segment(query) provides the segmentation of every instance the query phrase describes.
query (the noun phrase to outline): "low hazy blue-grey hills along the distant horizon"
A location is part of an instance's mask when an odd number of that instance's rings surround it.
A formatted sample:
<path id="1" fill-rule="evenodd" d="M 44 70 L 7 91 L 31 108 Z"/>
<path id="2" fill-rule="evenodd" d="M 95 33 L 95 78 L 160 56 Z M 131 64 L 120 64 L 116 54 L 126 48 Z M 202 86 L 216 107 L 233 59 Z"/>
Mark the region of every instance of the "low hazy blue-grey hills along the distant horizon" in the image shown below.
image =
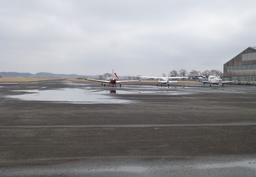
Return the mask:
<path id="1" fill-rule="evenodd" d="M 62 77 L 62 78 L 78 78 L 78 77 L 87 77 L 87 78 L 97 78 L 100 75 L 95 76 L 85 76 L 77 74 L 53 74 L 50 72 L 38 72 L 37 74 L 31 74 L 29 72 L 0 72 L 2 77 Z M 128 76 L 119 76 L 119 79 L 127 79 Z"/>

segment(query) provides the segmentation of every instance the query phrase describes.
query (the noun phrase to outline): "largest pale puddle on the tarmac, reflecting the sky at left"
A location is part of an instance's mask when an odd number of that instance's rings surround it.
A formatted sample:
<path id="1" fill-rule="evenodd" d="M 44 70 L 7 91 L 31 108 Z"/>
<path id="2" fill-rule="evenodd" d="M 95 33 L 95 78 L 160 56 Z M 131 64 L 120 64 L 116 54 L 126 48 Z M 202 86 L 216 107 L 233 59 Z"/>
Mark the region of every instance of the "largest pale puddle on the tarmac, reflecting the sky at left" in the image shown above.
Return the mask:
<path id="1" fill-rule="evenodd" d="M 111 90 L 83 90 L 83 89 L 56 89 L 56 90 L 15 90 L 25 94 L 7 96 L 21 100 L 57 101 L 71 103 L 128 103 L 129 100 L 111 96 Z"/>

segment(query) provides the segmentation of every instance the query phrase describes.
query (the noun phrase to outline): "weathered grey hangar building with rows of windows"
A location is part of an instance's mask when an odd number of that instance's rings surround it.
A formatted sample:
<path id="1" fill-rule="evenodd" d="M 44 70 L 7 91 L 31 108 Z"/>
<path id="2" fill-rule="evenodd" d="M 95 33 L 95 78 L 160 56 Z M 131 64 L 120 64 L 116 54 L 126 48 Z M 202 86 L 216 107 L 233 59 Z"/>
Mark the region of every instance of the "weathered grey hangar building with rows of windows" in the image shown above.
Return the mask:
<path id="1" fill-rule="evenodd" d="M 223 75 L 237 84 L 256 84 L 256 47 L 248 47 L 225 63 Z"/>

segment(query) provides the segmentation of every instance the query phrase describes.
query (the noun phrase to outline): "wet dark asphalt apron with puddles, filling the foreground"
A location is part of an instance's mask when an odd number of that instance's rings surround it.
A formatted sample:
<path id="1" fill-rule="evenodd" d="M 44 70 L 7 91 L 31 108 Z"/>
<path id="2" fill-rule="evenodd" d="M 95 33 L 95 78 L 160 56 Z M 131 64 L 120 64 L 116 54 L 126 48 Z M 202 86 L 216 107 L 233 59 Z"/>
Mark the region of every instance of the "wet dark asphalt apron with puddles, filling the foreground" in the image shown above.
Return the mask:
<path id="1" fill-rule="evenodd" d="M 0 83 L 0 176 L 255 177 L 255 137 L 252 85 Z"/>

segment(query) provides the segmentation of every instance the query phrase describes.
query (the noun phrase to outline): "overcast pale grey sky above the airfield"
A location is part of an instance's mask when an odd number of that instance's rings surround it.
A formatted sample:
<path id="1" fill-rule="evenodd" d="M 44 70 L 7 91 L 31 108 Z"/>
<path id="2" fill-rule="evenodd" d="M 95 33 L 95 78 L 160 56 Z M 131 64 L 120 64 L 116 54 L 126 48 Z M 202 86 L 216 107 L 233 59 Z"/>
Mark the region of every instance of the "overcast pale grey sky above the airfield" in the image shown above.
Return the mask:
<path id="1" fill-rule="evenodd" d="M 160 76 L 256 46 L 254 0 L 0 0 L 0 72 Z"/>

